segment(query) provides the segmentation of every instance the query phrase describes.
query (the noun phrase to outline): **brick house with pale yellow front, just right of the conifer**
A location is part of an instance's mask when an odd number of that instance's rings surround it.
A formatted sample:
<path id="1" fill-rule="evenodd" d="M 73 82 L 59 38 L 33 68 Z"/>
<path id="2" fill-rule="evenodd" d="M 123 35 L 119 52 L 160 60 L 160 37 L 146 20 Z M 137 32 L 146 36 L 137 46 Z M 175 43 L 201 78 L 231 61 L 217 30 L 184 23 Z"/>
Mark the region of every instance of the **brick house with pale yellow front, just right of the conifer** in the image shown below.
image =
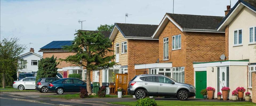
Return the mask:
<path id="1" fill-rule="evenodd" d="M 115 62 L 113 68 L 103 70 L 102 82 L 113 82 L 111 73 L 126 73 L 128 81 L 147 70 L 136 70 L 136 64 L 155 63 L 158 59 L 158 39 L 152 35 L 158 25 L 115 23 L 109 36 L 113 42 Z"/>

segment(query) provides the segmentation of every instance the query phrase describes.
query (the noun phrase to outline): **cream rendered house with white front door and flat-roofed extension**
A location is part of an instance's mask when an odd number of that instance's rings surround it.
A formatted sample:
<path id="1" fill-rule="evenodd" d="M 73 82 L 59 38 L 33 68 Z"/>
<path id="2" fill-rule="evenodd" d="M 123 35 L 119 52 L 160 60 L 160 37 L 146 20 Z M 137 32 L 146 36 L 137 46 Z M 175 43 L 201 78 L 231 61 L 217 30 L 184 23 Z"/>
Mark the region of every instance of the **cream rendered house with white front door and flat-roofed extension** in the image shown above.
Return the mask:
<path id="1" fill-rule="evenodd" d="M 244 87 L 253 94 L 253 74 L 256 71 L 256 1 L 239 0 L 233 8 L 227 6 L 225 18 L 217 26 L 218 31 L 225 31 L 226 59 L 206 63 L 194 63 L 194 70 L 206 70 L 207 86 L 221 92 L 224 86 L 231 92 L 237 87 Z M 231 96 L 231 93 L 229 93 Z"/>

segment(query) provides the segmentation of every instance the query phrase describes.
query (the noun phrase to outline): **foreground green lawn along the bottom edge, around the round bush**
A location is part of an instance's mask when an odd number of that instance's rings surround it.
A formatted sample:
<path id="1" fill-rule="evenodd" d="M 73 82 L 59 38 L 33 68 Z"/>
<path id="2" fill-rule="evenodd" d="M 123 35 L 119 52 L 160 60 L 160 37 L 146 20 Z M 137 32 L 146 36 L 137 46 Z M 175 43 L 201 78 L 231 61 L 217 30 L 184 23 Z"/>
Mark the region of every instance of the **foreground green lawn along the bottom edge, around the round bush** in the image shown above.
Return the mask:
<path id="1" fill-rule="evenodd" d="M 158 106 L 256 106 L 252 102 L 204 102 L 204 101 L 156 101 Z M 135 101 L 133 102 L 108 102 L 111 104 L 120 104 L 127 106 L 135 106 Z"/>

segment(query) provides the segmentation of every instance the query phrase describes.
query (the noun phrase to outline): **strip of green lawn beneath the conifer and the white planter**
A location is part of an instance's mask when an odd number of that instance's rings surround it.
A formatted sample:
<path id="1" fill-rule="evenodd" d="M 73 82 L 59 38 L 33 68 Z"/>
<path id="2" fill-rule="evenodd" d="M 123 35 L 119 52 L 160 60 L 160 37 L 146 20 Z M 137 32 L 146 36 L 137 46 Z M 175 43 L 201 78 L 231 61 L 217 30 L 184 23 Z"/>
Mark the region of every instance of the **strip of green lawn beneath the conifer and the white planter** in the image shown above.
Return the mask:
<path id="1" fill-rule="evenodd" d="M 80 99 L 80 95 L 78 94 L 65 94 L 65 95 L 45 95 L 41 97 L 51 97 L 51 98 L 62 98 L 62 99 Z M 122 96 L 122 98 L 132 98 L 131 95 Z M 89 98 L 99 98 L 98 95 L 90 95 Z M 117 95 L 106 95 L 105 98 L 117 98 Z"/>

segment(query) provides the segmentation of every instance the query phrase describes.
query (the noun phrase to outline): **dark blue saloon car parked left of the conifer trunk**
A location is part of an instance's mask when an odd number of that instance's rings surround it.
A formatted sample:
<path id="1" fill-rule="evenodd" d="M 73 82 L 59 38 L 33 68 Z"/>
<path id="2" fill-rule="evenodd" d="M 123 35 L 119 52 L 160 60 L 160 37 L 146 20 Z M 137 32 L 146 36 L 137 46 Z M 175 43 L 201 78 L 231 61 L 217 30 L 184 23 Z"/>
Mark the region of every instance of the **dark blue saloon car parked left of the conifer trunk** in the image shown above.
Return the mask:
<path id="1" fill-rule="evenodd" d="M 63 78 L 49 83 L 48 90 L 57 94 L 63 94 L 64 92 L 80 92 L 80 87 L 86 89 L 86 82 L 78 78 Z"/>

